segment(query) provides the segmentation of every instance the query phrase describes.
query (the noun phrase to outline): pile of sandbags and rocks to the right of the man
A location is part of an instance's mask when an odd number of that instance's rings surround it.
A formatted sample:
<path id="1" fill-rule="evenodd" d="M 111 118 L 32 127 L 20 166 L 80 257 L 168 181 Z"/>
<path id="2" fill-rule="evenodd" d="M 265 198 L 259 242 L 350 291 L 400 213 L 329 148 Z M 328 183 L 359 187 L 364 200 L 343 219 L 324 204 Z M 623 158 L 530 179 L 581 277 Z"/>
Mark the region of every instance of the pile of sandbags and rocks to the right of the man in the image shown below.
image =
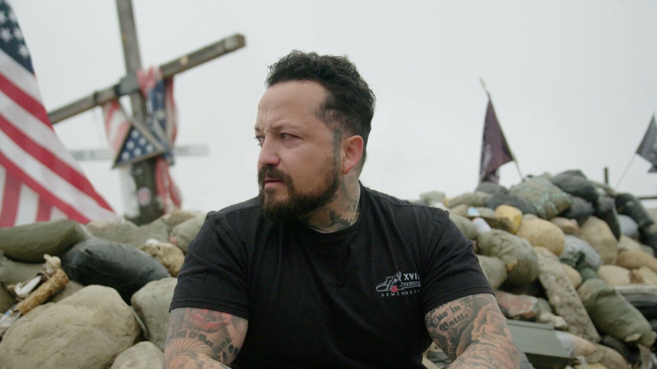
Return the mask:
<path id="1" fill-rule="evenodd" d="M 635 196 L 572 170 L 421 198 L 474 242 L 505 316 L 553 326 L 572 366 L 657 364 L 657 223 Z"/>

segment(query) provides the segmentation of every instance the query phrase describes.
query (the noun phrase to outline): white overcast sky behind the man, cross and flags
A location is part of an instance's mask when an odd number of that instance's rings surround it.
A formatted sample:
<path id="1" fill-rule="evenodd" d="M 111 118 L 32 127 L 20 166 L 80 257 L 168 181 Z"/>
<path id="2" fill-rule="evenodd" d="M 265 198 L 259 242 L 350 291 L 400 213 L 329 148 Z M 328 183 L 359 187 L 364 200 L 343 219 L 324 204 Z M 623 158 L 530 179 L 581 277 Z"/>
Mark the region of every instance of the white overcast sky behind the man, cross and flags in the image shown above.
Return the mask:
<path id="1" fill-rule="evenodd" d="M 112 0 L 10 0 L 53 110 L 124 76 Z M 241 33 L 246 47 L 175 78 L 178 144 L 209 156 L 173 167 L 183 207 L 219 209 L 256 194 L 253 139 L 267 65 L 292 49 L 346 54 L 378 98 L 366 186 L 406 199 L 476 188 L 486 82 L 522 175 L 581 169 L 657 194 L 635 156 L 657 108 L 657 1 L 133 0 L 141 58 L 162 64 Z M 125 101 L 125 105 L 128 102 Z M 106 148 L 100 108 L 55 125 L 70 149 Z M 118 211 L 110 162 L 83 169 Z M 513 163 L 501 184 L 520 182 Z"/>

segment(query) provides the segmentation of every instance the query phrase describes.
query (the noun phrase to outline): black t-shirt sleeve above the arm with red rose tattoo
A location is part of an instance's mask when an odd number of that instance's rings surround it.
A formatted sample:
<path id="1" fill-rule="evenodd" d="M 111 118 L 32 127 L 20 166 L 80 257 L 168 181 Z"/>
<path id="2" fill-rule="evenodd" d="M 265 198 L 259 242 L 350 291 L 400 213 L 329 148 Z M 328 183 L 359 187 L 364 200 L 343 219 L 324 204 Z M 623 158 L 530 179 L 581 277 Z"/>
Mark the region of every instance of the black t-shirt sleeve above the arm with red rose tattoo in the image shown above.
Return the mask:
<path id="1" fill-rule="evenodd" d="M 248 319 L 246 253 L 221 215 L 210 213 L 187 247 L 170 309 L 178 307 Z"/>

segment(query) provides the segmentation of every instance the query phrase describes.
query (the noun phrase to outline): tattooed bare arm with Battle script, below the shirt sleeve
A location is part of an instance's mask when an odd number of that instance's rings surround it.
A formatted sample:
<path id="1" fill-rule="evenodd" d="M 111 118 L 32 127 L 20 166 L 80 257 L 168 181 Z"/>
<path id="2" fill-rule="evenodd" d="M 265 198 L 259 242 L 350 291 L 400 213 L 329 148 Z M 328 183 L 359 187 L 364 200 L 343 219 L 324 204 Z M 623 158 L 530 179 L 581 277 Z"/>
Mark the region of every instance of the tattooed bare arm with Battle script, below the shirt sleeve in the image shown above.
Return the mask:
<path id="1" fill-rule="evenodd" d="M 507 320 L 495 296 L 468 295 L 424 316 L 429 335 L 453 363 L 449 368 L 519 368 Z"/>

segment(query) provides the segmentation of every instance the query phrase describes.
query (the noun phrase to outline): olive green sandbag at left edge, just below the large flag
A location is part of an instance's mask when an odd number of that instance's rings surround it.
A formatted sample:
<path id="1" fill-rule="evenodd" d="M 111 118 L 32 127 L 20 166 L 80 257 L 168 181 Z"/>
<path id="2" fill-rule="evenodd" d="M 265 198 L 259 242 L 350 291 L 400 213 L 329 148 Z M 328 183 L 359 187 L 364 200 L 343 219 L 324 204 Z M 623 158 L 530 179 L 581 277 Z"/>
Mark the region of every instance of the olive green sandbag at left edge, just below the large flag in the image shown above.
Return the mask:
<path id="1" fill-rule="evenodd" d="M 59 255 L 91 234 L 76 221 L 58 219 L 0 228 L 0 251 L 15 261 L 43 263 L 43 254 Z"/>

